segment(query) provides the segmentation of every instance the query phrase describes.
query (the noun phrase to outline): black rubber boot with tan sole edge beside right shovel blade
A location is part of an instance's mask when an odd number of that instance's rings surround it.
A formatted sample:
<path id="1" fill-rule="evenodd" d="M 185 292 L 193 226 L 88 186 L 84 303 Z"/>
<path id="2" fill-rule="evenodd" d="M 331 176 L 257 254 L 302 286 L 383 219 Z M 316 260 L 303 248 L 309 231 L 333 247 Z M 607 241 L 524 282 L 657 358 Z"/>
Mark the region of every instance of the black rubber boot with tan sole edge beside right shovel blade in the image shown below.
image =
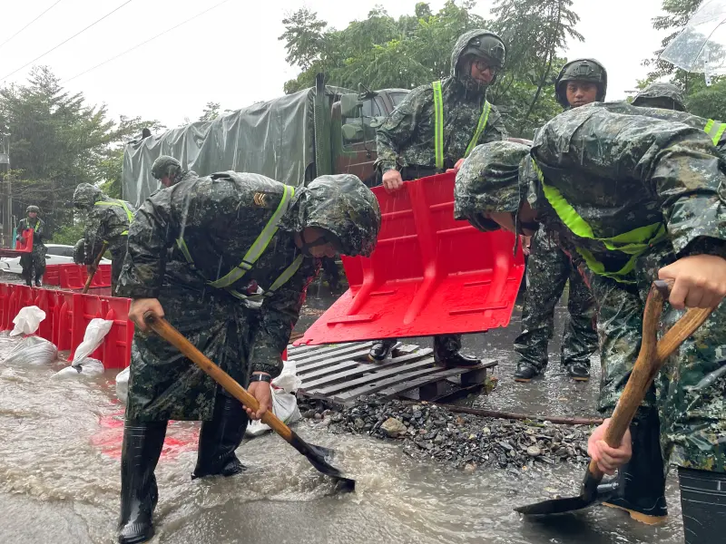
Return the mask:
<path id="1" fill-rule="evenodd" d="M 633 457 L 616 477 L 620 497 L 603 504 L 627 511 L 633 520 L 654 525 L 668 516 L 658 413 L 651 410 L 642 420 L 631 423 L 630 433 Z"/>

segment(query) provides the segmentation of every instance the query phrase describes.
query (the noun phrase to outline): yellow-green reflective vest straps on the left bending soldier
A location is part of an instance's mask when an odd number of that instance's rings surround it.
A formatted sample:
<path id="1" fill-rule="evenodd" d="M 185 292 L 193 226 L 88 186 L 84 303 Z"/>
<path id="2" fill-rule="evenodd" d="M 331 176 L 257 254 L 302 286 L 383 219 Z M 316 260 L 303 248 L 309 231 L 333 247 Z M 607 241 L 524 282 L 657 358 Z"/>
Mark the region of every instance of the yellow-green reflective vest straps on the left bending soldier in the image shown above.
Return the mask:
<path id="1" fill-rule="evenodd" d="M 252 266 L 258 261 L 258 259 L 262 256 L 267 247 L 270 245 L 270 241 L 278 231 L 280 220 L 282 219 L 282 216 L 285 215 L 285 212 L 288 211 L 290 203 L 292 201 L 292 197 L 294 196 L 295 189 L 290 187 L 289 185 L 285 185 L 285 189 L 283 189 L 282 192 L 282 199 L 280 199 L 280 204 L 278 205 L 278 208 L 275 209 L 275 213 L 272 214 L 272 217 L 267 222 L 267 225 L 265 225 L 265 228 L 262 228 L 260 236 L 258 236 L 255 241 L 252 242 L 250 249 L 248 249 L 247 253 L 245 253 L 244 257 L 242 257 L 242 261 L 240 262 L 240 264 L 237 267 L 232 268 L 231 272 L 224 277 L 221 277 L 215 281 L 207 280 L 208 285 L 210 285 L 211 287 L 226 289 L 232 296 L 236 296 L 241 300 L 260 300 L 262 296 L 272 296 L 275 291 L 277 291 L 280 287 L 286 284 L 289 279 L 295 275 L 295 272 L 297 272 L 300 265 L 302 265 L 302 261 L 304 258 L 302 254 L 296 257 L 295 260 L 292 261 L 292 264 L 289 267 L 285 268 L 282 274 L 280 274 L 280 277 L 273 281 L 272 285 L 268 287 L 267 291 L 263 293 L 260 293 L 258 295 L 244 295 L 236 289 L 232 288 L 232 285 L 234 283 L 239 281 L 241 277 L 243 277 L 245 274 L 247 274 L 248 271 L 250 271 Z M 189 248 L 187 248 L 186 242 L 184 242 L 184 238 L 177 238 L 176 244 L 177 247 L 182 251 L 182 255 L 184 256 L 184 258 L 193 267 L 194 259 L 191 258 L 191 253 L 189 252 Z"/>

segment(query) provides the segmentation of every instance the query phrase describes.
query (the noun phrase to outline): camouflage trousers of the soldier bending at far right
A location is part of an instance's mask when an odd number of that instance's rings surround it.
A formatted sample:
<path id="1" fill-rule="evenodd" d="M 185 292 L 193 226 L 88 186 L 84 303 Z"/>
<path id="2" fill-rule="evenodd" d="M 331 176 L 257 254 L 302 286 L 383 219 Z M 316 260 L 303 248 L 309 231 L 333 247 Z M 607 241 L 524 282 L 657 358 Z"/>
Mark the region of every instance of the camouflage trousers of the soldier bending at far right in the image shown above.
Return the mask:
<path id="1" fill-rule="evenodd" d="M 672 256 L 642 257 L 637 285 L 619 284 L 588 273 L 598 310 L 603 365 L 598 409 L 606 416 L 627 383 L 640 351 L 643 309 L 658 269 Z M 666 304 L 662 331 L 683 312 Z M 663 460 L 684 468 L 726 471 L 726 304 L 686 340 L 655 377 L 635 421 L 655 406 L 661 420 Z"/>

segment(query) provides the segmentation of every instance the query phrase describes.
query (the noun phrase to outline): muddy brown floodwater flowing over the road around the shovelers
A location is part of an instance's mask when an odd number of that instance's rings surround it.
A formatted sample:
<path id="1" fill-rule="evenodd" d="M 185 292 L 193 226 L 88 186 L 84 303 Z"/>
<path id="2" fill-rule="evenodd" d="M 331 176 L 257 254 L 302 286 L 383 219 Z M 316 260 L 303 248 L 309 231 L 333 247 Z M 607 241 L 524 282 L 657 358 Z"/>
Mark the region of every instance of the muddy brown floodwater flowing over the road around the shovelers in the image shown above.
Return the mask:
<path id="1" fill-rule="evenodd" d="M 321 299 L 322 300 L 322 299 Z M 311 293 L 308 316 L 319 299 Z M 324 304 L 321 302 L 321 304 Z M 513 320 L 514 322 L 514 320 Z M 516 385 L 508 351 L 518 330 L 466 338 L 467 350 L 500 357 L 499 385 L 476 406 L 530 413 L 594 414 L 596 383 L 569 384 L 556 355 L 543 381 Z M 0 334 L 0 361 L 18 342 Z M 422 342 L 428 342 L 423 340 Z M 551 346 L 556 353 L 556 345 Z M 111 543 L 118 515 L 123 404 L 114 374 L 52 380 L 54 367 L 0 362 L 0 542 Z M 594 380 L 596 382 L 596 380 Z M 320 424 L 320 423 L 318 423 Z M 337 464 L 358 481 L 353 494 L 332 486 L 287 444 L 268 435 L 238 451 L 249 470 L 191 481 L 197 423 L 172 423 L 157 469 L 159 543 L 232 544 L 567 544 L 682 542 L 677 486 L 672 517 L 651 528 L 597 507 L 547 524 L 521 520 L 512 508 L 577 491 L 582 469 L 449 471 L 413 461 L 394 443 L 328 434 L 298 425 L 309 442 L 334 447 Z M 546 471 L 544 471 L 546 470 Z"/>

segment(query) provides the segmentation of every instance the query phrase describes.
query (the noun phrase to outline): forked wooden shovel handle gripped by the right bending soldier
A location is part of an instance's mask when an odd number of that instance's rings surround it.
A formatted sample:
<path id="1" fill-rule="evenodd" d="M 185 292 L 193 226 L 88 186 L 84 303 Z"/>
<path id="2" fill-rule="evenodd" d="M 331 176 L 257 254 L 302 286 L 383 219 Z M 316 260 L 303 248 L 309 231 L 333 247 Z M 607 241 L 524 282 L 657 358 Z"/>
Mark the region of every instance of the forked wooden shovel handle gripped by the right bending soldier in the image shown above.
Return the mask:
<path id="1" fill-rule="evenodd" d="M 658 342 L 658 322 L 661 318 L 663 302 L 672 286 L 672 280 L 653 282 L 645 301 L 641 350 L 633 366 L 633 372 L 628 378 L 628 383 L 625 384 L 623 394 L 615 406 L 607 432 L 605 432 L 605 442 L 612 448 L 617 448 L 623 441 L 623 436 L 630 427 L 638 407 L 643 402 L 645 393 L 666 359 L 696 332 L 698 327 L 703 325 L 703 322 L 711 316 L 715 309 L 715 307 L 689 308 Z M 590 461 L 590 471 L 597 478 L 603 477 L 603 473 L 597 468 L 595 461 Z"/>

